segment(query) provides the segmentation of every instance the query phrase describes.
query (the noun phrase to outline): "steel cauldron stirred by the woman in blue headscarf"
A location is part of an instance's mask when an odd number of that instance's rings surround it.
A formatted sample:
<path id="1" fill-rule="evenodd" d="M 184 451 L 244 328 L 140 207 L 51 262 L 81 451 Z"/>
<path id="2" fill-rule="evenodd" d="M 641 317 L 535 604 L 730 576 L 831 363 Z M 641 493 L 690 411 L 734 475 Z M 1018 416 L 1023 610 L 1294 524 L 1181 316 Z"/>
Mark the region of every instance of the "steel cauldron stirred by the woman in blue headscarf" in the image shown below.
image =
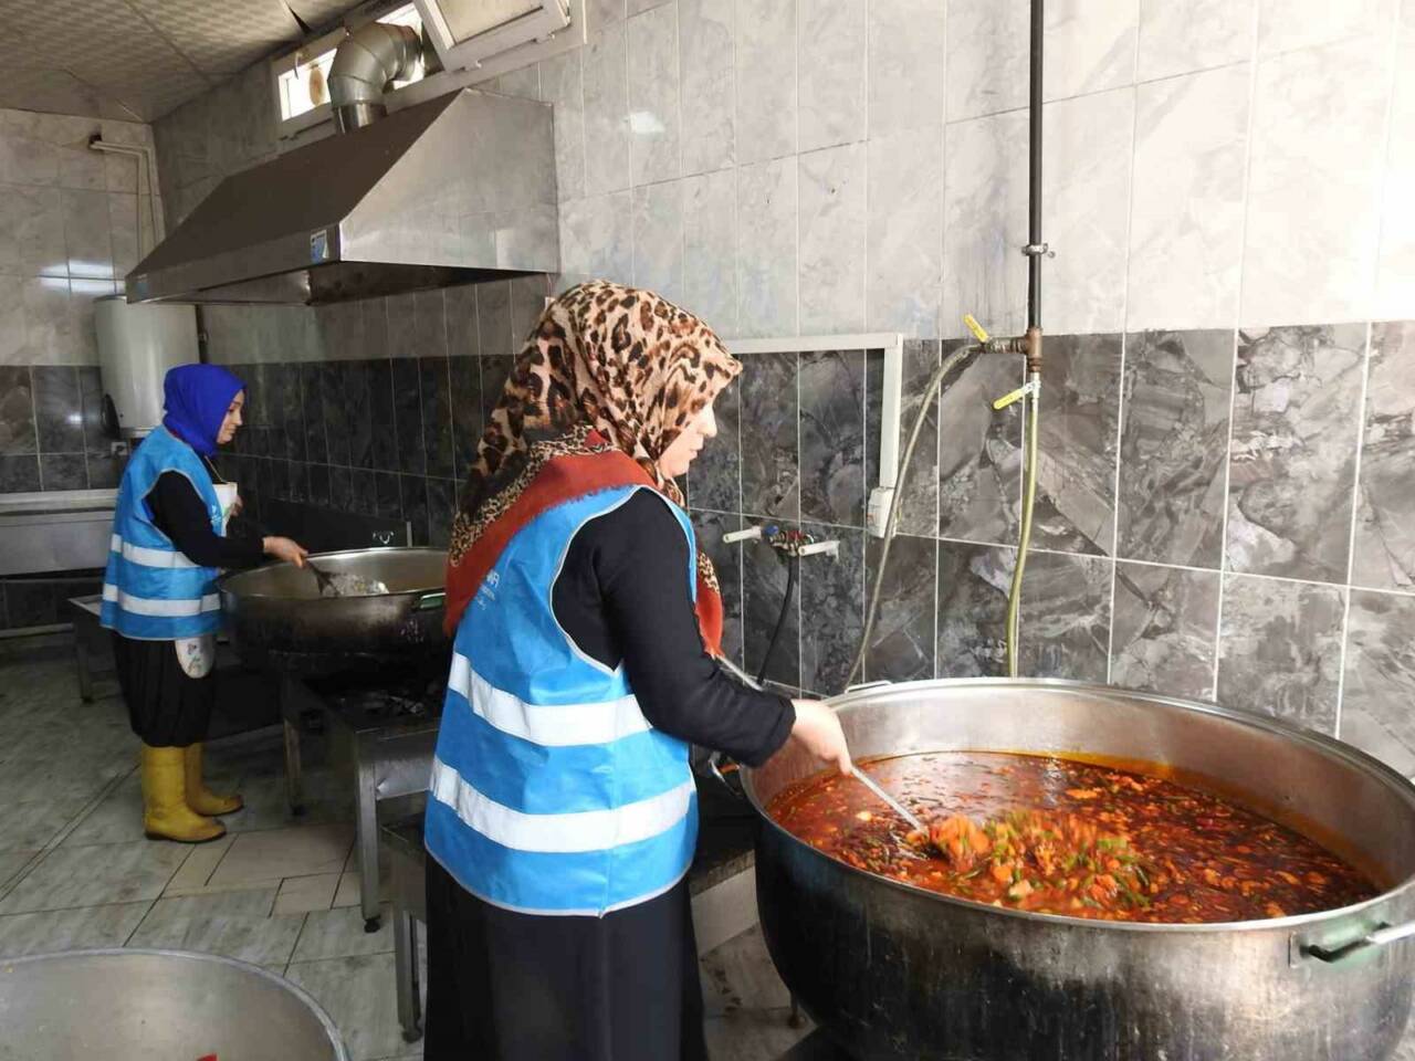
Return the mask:
<path id="1" fill-rule="evenodd" d="M 222 576 L 231 644 L 256 666 L 301 673 L 444 652 L 441 549 L 358 549 L 311 557 L 330 574 L 378 579 L 389 593 L 320 597 L 310 572 L 287 563 Z"/>

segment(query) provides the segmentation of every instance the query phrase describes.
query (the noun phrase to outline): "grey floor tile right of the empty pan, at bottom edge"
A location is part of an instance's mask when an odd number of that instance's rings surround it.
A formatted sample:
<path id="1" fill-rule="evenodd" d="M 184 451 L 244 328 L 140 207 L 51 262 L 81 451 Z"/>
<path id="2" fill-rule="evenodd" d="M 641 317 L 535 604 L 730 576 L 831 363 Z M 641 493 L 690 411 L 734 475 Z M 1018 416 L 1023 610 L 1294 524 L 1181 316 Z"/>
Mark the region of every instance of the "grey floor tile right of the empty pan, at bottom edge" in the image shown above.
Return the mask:
<path id="1" fill-rule="evenodd" d="M 406 1051 L 393 995 L 393 955 L 357 955 L 323 962 L 291 962 L 286 978 L 328 1011 L 352 1061 L 398 1057 Z"/>

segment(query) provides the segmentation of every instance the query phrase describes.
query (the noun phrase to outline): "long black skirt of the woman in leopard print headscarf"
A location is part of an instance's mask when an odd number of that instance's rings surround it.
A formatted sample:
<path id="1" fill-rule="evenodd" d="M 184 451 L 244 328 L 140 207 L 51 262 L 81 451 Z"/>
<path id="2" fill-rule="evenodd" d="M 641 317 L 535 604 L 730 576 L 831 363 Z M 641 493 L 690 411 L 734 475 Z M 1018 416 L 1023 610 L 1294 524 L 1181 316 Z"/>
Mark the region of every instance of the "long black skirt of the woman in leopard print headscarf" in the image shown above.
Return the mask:
<path id="1" fill-rule="evenodd" d="M 688 879 L 601 918 L 516 914 L 427 859 L 424 1061 L 706 1061 Z"/>

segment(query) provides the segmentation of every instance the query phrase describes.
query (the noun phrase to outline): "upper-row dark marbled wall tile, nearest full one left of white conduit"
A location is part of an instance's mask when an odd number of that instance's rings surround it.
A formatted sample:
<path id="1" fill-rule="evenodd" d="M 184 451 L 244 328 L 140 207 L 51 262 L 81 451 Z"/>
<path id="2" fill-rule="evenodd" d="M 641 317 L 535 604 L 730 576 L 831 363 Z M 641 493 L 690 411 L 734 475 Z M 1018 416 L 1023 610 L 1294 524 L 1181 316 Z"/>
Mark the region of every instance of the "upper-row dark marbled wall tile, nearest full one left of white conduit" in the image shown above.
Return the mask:
<path id="1" fill-rule="evenodd" d="M 799 417 L 802 518 L 863 528 L 865 351 L 801 355 Z"/>

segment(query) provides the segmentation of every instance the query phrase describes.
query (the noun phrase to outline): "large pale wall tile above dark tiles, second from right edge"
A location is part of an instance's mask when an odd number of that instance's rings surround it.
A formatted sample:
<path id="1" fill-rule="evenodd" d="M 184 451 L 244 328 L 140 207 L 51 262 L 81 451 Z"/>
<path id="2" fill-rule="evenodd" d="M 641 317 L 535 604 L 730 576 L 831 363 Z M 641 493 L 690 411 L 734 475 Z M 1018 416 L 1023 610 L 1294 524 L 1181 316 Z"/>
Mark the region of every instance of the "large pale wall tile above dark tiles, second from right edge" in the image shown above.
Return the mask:
<path id="1" fill-rule="evenodd" d="M 1259 64 L 1240 324 L 1367 318 L 1392 59 L 1351 41 Z"/>

